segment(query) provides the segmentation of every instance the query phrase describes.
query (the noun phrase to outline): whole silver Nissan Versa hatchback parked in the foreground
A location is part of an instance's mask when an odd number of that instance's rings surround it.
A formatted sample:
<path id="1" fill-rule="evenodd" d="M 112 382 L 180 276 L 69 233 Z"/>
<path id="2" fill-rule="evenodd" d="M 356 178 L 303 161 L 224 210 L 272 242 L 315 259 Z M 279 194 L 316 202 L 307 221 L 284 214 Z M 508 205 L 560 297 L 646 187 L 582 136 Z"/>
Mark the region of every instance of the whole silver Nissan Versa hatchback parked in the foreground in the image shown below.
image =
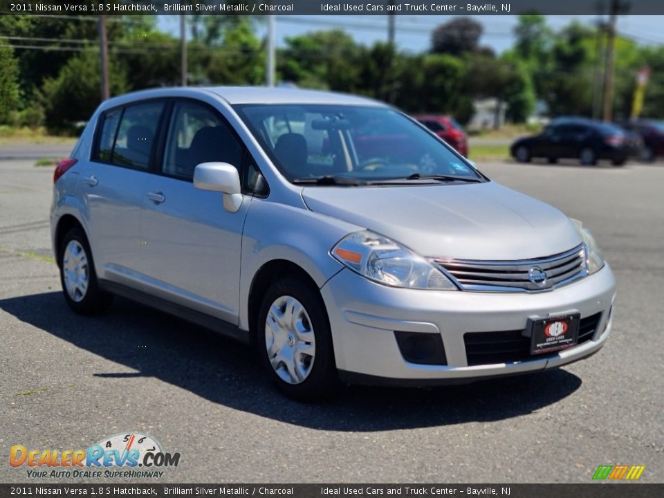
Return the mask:
<path id="1" fill-rule="evenodd" d="M 50 220 L 75 311 L 123 295 L 255 342 L 296 398 L 542 371 L 611 331 L 614 275 L 579 221 L 349 95 L 107 100 Z"/>

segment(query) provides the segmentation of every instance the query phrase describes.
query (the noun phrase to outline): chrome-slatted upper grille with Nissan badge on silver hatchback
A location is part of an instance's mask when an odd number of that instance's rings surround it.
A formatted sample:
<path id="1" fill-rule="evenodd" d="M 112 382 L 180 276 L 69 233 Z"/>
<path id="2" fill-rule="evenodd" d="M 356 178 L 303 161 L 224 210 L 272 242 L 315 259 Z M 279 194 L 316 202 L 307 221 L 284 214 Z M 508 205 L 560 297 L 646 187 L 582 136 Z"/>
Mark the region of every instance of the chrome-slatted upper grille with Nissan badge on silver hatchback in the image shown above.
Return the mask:
<path id="1" fill-rule="evenodd" d="M 588 274 L 583 244 L 557 255 L 519 261 L 434 259 L 434 262 L 464 291 L 546 291 Z"/>

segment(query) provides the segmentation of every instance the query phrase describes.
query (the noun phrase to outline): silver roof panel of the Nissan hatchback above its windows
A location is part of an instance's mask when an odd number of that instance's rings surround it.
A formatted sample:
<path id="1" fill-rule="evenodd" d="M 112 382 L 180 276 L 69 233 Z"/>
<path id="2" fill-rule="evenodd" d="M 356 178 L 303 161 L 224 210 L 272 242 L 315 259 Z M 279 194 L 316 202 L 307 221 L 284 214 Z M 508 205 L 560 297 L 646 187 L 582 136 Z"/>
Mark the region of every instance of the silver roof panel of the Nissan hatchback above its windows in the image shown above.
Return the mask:
<path id="1" fill-rule="evenodd" d="M 104 107 L 111 107 L 124 102 L 158 98 L 189 96 L 201 93 L 214 93 L 229 104 L 337 104 L 371 107 L 388 107 L 387 104 L 369 98 L 356 97 L 345 93 L 303 90 L 294 88 L 269 88 L 267 86 L 184 86 L 164 89 L 140 90 L 120 95 L 104 102 Z"/>

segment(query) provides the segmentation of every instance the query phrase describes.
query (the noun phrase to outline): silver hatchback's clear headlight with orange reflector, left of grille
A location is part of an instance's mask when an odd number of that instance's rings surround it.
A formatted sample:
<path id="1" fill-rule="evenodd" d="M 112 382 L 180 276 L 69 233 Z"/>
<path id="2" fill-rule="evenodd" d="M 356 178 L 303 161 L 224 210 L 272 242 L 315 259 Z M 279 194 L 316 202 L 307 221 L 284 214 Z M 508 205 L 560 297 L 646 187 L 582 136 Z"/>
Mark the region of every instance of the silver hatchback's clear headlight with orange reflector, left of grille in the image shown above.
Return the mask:
<path id="1" fill-rule="evenodd" d="M 457 290 L 448 277 L 426 259 L 370 230 L 347 235 L 332 248 L 331 254 L 351 270 L 380 284 Z"/>

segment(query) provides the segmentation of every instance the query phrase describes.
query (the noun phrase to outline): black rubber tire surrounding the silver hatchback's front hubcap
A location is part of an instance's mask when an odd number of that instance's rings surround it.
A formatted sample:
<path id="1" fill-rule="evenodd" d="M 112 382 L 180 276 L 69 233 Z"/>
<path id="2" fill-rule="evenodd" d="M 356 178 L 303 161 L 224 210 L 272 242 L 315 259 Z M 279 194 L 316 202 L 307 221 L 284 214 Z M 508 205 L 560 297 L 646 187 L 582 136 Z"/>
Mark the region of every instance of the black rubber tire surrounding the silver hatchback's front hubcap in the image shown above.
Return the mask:
<path id="1" fill-rule="evenodd" d="M 270 307 L 282 297 L 294 297 L 304 307 L 306 315 L 311 320 L 310 330 L 313 329 L 315 337 L 315 356 L 310 364 L 310 369 L 299 383 L 287 382 L 277 369 L 273 367 L 268 353 L 268 342 L 274 340 L 272 332 L 266 334 L 266 320 Z M 285 311 L 285 310 L 284 310 Z M 290 340 L 289 334 L 289 340 Z M 268 376 L 279 391 L 289 398 L 300 401 L 320 401 L 331 398 L 339 387 L 337 369 L 334 360 L 334 348 L 332 334 L 330 332 L 329 319 L 320 292 L 315 286 L 303 282 L 297 277 L 285 277 L 272 284 L 263 297 L 258 315 L 256 345 L 261 363 L 264 365 Z M 299 342 L 295 340 L 295 342 Z M 275 358 L 273 356 L 273 358 Z M 277 360 L 278 361 L 278 360 Z M 281 364 L 282 374 L 286 365 Z M 292 378 L 292 377 L 291 377 Z"/>

